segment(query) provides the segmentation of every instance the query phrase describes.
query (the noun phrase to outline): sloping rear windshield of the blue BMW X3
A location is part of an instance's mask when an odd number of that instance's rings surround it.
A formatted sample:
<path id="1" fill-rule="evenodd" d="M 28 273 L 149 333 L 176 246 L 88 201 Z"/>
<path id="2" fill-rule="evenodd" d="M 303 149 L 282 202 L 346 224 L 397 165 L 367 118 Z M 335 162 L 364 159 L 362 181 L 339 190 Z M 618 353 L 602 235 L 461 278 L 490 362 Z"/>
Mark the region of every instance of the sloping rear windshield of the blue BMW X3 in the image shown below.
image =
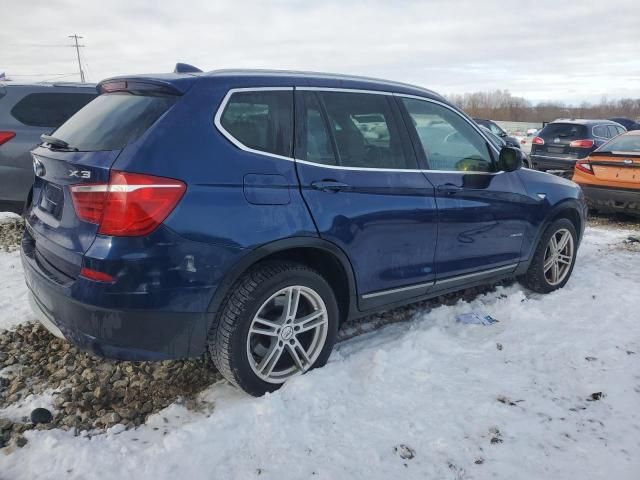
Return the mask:
<path id="1" fill-rule="evenodd" d="M 174 96 L 100 95 L 53 136 L 80 151 L 120 150 L 137 140 L 176 101 Z"/>

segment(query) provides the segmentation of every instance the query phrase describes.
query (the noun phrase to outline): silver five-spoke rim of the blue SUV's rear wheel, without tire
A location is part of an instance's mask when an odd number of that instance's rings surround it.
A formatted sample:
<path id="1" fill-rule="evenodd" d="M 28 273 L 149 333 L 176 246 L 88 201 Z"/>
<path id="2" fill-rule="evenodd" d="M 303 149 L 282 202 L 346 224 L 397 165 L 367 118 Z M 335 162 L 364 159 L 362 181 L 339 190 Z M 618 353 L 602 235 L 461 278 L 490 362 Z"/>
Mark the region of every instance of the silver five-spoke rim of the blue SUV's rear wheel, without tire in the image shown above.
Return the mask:
<path id="1" fill-rule="evenodd" d="M 269 297 L 253 317 L 247 357 L 253 372 L 268 383 L 283 383 L 304 373 L 318 359 L 329 319 L 322 297 L 294 285 Z"/>

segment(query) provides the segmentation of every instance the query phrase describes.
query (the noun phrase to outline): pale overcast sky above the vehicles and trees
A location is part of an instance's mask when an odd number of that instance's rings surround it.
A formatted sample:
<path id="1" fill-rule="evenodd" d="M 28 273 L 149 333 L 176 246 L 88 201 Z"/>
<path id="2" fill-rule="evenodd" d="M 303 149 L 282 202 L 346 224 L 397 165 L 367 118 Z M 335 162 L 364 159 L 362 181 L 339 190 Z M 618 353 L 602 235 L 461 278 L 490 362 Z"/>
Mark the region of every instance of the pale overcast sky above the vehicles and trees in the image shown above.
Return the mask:
<path id="1" fill-rule="evenodd" d="M 91 81 L 182 61 L 533 101 L 640 97 L 640 0 L 0 0 L 0 11 L 0 72 L 14 80 L 78 79 L 64 47 L 77 33 Z"/>

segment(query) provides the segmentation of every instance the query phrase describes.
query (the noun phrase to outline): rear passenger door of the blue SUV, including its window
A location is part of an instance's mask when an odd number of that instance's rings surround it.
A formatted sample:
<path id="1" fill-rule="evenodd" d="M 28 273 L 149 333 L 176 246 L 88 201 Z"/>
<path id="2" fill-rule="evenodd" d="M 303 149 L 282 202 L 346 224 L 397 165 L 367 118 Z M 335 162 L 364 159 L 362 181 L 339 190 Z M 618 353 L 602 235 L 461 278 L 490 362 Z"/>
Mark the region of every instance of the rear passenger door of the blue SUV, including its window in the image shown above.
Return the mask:
<path id="1" fill-rule="evenodd" d="M 295 157 L 322 238 L 348 255 L 361 308 L 424 294 L 434 276 L 434 189 L 391 95 L 296 89 Z"/>

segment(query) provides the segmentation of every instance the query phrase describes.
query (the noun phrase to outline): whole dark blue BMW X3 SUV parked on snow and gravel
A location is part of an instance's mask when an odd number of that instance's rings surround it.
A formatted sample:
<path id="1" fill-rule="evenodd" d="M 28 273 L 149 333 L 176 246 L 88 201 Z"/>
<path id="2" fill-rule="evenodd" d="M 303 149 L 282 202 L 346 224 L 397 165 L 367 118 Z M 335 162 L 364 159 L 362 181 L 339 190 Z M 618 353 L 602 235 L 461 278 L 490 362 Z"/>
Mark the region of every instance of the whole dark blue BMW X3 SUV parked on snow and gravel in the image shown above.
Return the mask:
<path id="1" fill-rule="evenodd" d="M 348 318 L 571 275 L 577 185 L 431 91 L 271 71 L 98 90 L 33 150 L 22 241 L 42 323 L 97 355 L 208 351 L 261 395 L 323 365 Z"/>

